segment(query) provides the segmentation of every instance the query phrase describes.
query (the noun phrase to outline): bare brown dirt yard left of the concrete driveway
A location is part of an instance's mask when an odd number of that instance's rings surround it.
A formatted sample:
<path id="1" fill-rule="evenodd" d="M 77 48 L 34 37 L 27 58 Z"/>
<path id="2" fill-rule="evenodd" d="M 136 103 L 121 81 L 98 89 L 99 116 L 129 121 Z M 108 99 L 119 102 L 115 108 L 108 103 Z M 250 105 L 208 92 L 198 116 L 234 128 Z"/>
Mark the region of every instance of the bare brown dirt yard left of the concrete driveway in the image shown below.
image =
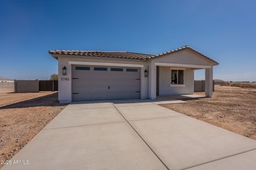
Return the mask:
<path id="1" fill-rule="evenodd" d="M 0 160 L 11 159 L 65 106 L 56 92 L 0 94 Z"/>

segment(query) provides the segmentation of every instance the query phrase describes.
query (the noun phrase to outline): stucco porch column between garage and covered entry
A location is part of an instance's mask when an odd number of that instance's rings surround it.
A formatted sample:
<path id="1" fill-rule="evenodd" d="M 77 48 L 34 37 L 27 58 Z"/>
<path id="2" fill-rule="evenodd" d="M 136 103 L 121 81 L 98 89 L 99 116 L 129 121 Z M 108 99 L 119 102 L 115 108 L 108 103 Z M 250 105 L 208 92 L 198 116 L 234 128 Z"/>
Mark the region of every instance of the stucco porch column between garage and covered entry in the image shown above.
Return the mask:
<path id="1" fill-rule="evenodd" d="M 156 65 L 151 61 L 148 69 L 148 97 L 156 99 Z"/>

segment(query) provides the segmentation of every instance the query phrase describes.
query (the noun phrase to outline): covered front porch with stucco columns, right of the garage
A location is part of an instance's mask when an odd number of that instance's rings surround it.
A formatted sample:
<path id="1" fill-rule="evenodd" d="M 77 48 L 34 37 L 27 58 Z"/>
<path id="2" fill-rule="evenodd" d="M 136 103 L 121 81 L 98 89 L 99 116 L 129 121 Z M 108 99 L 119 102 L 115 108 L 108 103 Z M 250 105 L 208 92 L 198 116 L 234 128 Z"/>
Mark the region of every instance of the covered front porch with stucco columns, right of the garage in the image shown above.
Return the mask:
<path id="1" fill-rule="evenodd" d="M 205 70 L 205 96 L 193 95 L 194 71 L 199 69 Z M 149 70 L 150 99 L 211 97 L 213 94 L 213 66 L 211 65 L 151 62 Z"/>

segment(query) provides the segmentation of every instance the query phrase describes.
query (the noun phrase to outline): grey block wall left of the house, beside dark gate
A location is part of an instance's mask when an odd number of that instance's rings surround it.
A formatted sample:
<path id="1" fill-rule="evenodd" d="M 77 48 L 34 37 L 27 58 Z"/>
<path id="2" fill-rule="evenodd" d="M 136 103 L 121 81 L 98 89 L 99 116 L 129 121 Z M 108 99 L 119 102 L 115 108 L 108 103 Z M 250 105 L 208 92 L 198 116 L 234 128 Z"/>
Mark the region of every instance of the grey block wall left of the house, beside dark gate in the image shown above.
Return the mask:
<path id="1" fill-rule="evenodd" d="M 15 80 L 15 93 L 39 92 L 39 80 Z"/>

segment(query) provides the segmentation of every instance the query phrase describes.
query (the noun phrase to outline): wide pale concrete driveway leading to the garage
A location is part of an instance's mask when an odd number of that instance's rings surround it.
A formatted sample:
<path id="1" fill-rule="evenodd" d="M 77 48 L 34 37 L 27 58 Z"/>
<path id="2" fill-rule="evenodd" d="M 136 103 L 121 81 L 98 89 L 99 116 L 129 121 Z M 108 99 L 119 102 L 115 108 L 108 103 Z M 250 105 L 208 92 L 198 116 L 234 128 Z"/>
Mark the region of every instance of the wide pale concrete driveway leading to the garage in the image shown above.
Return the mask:
<path id="1" fill-rule="evenodd" d="M 148 100 L 69 104 L 2 169 L 256 169 L 256 141 Z"/>

